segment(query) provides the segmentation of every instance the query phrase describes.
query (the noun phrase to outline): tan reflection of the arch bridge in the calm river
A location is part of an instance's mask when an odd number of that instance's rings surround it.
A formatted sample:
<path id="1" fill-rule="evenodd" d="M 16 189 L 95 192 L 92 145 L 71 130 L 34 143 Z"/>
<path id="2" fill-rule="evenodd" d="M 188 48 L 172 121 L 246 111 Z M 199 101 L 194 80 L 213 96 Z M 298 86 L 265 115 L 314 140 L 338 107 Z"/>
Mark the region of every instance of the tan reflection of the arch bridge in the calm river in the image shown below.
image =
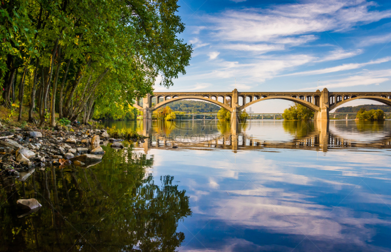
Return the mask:
<path id="1" fill-rule="evenodd" d="M 352 140 L 329 130 L 330 123 L 328 121 L 279 122 L 282 123 L 286 132 L 295 135 L 287 141 L 270 141 L 248 134 L 246 128 L 251 128 L 251 123 L 252 121 L 244 124 L 237 123 L 235 126 L 228 124 L 227 126 L 218 120 L 204 120 L 201 124 L 193 122 L 193 124 L 187 125 L 187 128 L 180 128 L 178 122 L 170 122 L 170 125 L 167 126 L 164 125 L 164 121 L 161 121 L 152 126 L 152 122 L 144 121 L 138 131 L 149 138 L 142 144 L 136 143 L 136 146 L 143 147 L 146 153 L 152 148 L 172 150 L 232 149 L 234 152 L 241 150 L 272 151 L 271 149 L 307 149 L 327 152 L 338 148 L 391 148 L 391 134 L 375 141 Z M 192 130 L 192 126 L 200 126 L 200 128 Z M 208 131 L 208 127 L 211 126 L 216 127 L 218 131 Z M 373 127 L 373 124 L 369 126 Z M 174 132 L 172 129 L 178 130 Z M 191 132 L 197 132 L 197 134 L 191 134 Z"/>

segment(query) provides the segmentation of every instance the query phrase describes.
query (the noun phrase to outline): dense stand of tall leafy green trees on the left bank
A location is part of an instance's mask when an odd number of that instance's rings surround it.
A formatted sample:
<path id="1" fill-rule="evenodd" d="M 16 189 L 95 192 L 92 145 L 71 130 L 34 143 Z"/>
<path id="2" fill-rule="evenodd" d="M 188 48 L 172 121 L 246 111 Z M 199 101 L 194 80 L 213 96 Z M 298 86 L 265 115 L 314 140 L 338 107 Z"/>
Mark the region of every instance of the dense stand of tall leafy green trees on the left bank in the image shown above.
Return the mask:
<path id="1" fill-rule="evenodd" d="M 29 119 L 37 107 L 40 125 L 46 113 L 55 126 L 55 112 L 87 123 L 103 107 L 113 112 L 132 105 L 152 93 L 157 76 L 169 87 L 189 65 L 193 50 L 178 38 L 185 26 L 176 0 L 4 1 L 3 105 L 10 106 L 18 81 L 20 114 L 26 96 Z"/>

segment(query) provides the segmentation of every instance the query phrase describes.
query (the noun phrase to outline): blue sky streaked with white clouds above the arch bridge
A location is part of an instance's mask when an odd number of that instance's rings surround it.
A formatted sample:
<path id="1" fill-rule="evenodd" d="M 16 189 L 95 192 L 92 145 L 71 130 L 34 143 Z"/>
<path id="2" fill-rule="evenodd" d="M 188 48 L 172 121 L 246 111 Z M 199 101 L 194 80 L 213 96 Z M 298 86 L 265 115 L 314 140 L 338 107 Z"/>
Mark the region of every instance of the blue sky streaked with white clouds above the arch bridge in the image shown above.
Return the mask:
<path id="1" fill-rule="evenodd" d="M 179 0 L 194 52 L 170 91 L 391 91 L 391 1 Z M 166 90 L 156 85 L 155 91 Z M 346 105 L 374 104 L 353 101 Z M 291 103 L 264 101 L 255 112 Z"/>

